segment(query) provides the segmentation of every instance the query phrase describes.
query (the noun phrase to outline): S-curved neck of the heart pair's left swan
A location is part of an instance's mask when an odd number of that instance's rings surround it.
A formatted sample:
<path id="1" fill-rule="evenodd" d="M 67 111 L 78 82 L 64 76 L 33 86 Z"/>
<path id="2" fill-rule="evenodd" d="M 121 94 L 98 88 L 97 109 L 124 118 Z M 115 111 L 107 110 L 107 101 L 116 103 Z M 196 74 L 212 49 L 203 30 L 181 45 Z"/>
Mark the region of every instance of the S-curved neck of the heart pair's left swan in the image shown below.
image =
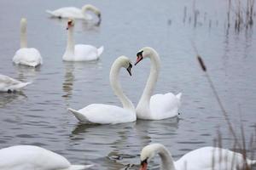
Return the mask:
<path id="1" fill-rule="evenodd" d="M 120 71 L 121 65 L 119 65 L 119 62 L 114 62 L 111 71 L 109 74 L 109 81 L 110 85 L 113 88 L 113 92 L 119 100 L 121 101 L 124 109 L 135 111 L 134 105 L 131 103 L 131 100 L 127 98 L 127 96 L 124 94 L 121 85 L 119 83 L 119 71 Z"/>

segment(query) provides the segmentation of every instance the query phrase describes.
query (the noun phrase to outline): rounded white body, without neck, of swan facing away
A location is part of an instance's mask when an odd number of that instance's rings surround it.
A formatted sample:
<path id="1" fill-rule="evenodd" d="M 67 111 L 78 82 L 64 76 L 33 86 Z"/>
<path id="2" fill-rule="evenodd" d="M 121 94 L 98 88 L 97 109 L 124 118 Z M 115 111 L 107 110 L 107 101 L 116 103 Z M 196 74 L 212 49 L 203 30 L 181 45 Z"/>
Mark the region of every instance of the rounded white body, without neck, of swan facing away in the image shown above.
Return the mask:
<path id="1" fill-rule="evenodd" d="M 43 64 L 41 54 L 36 48 L 20 48 L 16 52 L 13 61 L 15 64 L 28 65 L 32 67 Z"/>

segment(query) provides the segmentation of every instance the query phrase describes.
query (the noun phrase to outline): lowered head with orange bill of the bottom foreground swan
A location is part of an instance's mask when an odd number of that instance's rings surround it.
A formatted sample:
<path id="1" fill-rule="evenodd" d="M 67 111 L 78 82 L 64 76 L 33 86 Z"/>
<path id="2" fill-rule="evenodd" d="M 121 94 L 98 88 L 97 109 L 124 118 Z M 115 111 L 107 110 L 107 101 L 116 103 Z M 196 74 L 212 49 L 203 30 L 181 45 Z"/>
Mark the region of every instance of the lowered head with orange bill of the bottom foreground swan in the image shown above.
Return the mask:
<path id="1" fill-rule="evenodd" d="M 141 167 L 140 170 L 147 170 L 148 162 L 159 153 L 161 147 L 165 147 L 162 144 L 148 144 L 141 152 Z"/>

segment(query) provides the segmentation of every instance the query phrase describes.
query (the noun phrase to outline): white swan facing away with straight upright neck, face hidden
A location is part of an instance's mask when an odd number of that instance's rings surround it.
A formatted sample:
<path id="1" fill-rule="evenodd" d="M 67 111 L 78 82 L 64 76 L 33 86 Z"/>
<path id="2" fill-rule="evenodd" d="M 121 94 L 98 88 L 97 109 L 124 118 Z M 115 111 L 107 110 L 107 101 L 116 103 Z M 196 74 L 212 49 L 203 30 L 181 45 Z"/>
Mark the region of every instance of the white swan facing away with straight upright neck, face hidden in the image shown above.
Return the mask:
<path id="1" fill-rule="evenodd" d="M 20 49 L 16 51 L 13 62 L 17 65 L 36 67 L 43 64 L 43 59 L 38 49 L 27 48 L 26 19 L 20 20 Z"/>

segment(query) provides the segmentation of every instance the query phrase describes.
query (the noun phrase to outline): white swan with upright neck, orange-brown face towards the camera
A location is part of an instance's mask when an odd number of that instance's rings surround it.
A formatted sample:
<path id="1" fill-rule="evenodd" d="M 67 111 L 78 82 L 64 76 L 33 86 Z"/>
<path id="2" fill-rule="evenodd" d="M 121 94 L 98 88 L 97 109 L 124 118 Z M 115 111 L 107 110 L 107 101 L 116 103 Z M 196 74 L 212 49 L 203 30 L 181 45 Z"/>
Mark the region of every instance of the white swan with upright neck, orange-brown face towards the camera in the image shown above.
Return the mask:
<path id="1" fill-rule="evenodd" d="M 77 44 L 73 41 L 74 20 L 67 21 L 67 48 L 62 57 L 65 61 L 90 61 L 99 59 L 104 47 L 96 48 L 91 45 Z"/>

